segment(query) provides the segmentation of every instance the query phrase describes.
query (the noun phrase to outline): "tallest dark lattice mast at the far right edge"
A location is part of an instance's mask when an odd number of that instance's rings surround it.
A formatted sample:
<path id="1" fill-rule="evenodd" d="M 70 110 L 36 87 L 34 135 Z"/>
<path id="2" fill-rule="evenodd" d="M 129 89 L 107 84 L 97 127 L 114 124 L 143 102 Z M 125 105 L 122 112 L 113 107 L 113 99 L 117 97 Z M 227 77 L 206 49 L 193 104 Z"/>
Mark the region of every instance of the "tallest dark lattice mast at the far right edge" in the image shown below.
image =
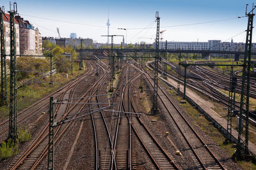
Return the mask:
<path id="1" fill-rule="evenodd" d="M 246 43 L 244 49 L 244 64 L 243 64 L 243 78 L 241 89 L 241 101 L 240 101 L 240 113 L 239 113 L 239 129 L 238 129 L 238 141 L 237 141 L 237 155 L 241 156 L 244 151 L 248 154 L 248 119 L 249 119 L 249 98 L 250 98 L 250 69 L 251 69 L 251 52 L 252 52 L 252 30 L 253 30 L 253 16 L 255 15 L 252 11 L 247 14 L 246 5 L 246 16 L 248 17 L 248 25 L 246 30 Z M 246 81 L 247 80 L 247 81 Z M 244 94 L 245 93 L 245 94 Z M 245 106 L 245 110 L 244 110 Z M 245 115 L 245 141 L 242 140 L 243 133 L 243 115 Z"/>

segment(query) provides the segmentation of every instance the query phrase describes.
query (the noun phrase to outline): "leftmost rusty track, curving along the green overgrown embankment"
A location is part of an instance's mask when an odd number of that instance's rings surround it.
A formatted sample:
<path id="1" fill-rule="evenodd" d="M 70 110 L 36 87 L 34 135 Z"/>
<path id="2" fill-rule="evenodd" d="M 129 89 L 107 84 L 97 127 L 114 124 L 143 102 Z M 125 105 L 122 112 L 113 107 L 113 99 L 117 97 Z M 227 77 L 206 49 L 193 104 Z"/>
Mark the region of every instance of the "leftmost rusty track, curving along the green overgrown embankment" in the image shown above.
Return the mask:
<path id="1" fill-rule="evenodd" d="M 30 118 L 31 116 L 34 116 L 34 115 L 37 115 L 39 117 L 41 115 L 41 117 L 42 117 L 42 111 L 44 111 L 42 109 L 44 109 L 44 107 L 49 104 L 48 99 L 49 99 L 50 96 L 54 96 L 55 98 L 58 98 L 58 97 L 61 98 L 63 96 L 63 94 L 65 94 L 65 92 L 67 92 L 67 90 L 72 89 L 78 81 L 80 82 L 84 78 L 86 78 L 88 75 L 92 74 L 92 70 L 93 70 L 92 63 L 90 61 L 88 61 L 88 64 L 90 65 L 90 67 L 89 67 L 88 71 L 86 73 L 84 73 L 82 76 L 79 76 L 74 81 L 70 81 L 69 83 L 67 83 L 63 87 L 60 87 L 58 90 L 56 90 L 56 91 L 52 92 L 51 94 L 43 97 L 42 99 L 40 99 L 39 101 L 36 101 L 36 103 L 32 104 L 28 108 L 26 108 L 26 109 L 20 111 L 19 113 L 17 113 L 17 124 L 22 124 L 22 122 L 28 120 L 28 118 Z M 63 91 L 63 92 L 61 92 L 61 91 Z M 38 119 L 36 118 L 36 121 L 37 120 Z M 3 120 L 3 122 L 0 123 L 0 139 L 2 141 L 4 139 L 6 139 L 6 136 L 7 136 L 8 121 L 9 120 L 6 119 L 6 120 Z"/>

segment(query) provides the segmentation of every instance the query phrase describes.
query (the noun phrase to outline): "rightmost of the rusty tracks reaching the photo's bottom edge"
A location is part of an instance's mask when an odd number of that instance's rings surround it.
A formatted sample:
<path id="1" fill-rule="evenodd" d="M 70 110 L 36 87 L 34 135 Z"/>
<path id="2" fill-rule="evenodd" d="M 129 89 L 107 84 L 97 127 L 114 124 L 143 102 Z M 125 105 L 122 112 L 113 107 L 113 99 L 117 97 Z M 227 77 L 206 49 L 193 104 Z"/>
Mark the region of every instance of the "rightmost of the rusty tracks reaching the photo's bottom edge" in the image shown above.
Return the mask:
<path id="1" fill-rule="evenodd" d="M 145 75 L 150 85 L 154 86 L 154 81 L 149 74 Z M 164 109 L 168 112 L 168 115 L 175 122 L 175 125 L 179 129 L 179 136 L 182 141 L 186 141 L 186 145 L 191 149 L 190 155 L 194 160 L 196 169 L 225 169 L 221 162 L 216 158 L 214 153 L 211 152 L 209 147 L 204 143 L 200 136 L 193 129 L 188 120 L 182 115 L 181 111 L 168 96 L 168 94 L 159 87 L 158 97 L 164 106 Z M 171 113 L 172 111 L 172 113 Z M 193 154 L 192 154 L 193 153 Z"/>

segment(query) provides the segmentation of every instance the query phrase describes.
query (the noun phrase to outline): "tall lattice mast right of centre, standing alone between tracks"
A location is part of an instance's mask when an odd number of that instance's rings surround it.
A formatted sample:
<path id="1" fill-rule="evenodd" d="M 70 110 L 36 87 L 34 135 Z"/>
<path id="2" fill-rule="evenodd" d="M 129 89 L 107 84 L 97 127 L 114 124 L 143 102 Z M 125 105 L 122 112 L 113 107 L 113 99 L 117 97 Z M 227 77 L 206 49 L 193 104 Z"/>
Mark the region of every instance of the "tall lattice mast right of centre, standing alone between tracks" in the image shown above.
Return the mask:
<path id="1" fill-rule="evenodd" d="M 154 93 L 153 93 L 153 107 L 151 110 L 151 114 L 157 114 L 157 87 L 158 87 L 158 64 L 159 64 L 159 25 L 160 25 L 160 17 L 158 11 L 156 12 L 156 22 L 157 22 L 157 29 L 156 29 L 156 57 L 155 57 L 155 69 L 154 69 Z"/>

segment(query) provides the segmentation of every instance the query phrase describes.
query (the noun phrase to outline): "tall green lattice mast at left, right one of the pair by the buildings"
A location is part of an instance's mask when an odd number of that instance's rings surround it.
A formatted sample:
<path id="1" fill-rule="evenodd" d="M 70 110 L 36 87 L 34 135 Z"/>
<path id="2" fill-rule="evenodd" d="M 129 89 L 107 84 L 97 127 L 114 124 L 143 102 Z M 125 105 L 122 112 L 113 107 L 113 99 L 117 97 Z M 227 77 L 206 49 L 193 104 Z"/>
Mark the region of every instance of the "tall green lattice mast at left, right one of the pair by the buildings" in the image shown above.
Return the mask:
<path id="1" fill-rule="evenodd" d="M 9 134 L 8 138 L 17 139 L 17 75 L 16 75 L 16 39 L 15 19 L 17 4 L 10 13 L 10 112 L 9 112 Z"/>

